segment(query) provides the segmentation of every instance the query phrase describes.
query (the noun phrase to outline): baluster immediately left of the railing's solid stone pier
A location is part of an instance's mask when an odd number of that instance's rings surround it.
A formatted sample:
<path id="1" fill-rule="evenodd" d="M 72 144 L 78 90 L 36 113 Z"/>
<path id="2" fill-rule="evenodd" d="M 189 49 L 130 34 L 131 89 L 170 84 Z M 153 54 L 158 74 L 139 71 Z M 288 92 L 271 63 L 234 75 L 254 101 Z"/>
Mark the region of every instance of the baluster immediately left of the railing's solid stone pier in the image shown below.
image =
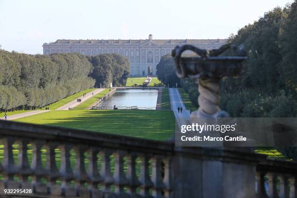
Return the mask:
<path id="1" fill-rule="evenodd" d="M 173 173 L 172 173 L 172 158 L 166 157 L 163 160 L 164 163 L 164 197 L 172 198 L 172 187 L 173 187 Z"/>

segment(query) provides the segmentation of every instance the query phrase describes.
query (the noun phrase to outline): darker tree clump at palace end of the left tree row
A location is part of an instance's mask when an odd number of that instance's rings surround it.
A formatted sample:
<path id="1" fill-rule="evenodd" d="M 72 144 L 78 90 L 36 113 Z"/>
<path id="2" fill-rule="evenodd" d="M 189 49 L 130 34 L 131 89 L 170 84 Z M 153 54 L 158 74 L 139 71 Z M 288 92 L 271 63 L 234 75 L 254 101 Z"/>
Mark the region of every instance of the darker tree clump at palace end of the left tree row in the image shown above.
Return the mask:
<path id="1" fill-rule="evenodd" d="M 88 60 L 94 66 L 91 76 L 96 79 L 97 87 L 125 85 L 129 77 L 130 63 L 127 58 L 118 54 L 99 54 L 89 56 Z"/>

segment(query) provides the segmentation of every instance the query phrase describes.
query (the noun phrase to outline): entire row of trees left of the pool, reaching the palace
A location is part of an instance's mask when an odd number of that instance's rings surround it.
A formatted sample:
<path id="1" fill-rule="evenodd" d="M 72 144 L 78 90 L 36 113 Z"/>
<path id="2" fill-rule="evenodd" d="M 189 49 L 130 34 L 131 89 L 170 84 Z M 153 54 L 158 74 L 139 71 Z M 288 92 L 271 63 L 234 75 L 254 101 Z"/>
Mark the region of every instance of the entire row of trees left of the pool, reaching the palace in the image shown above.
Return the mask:
<path id="1" fill-rule="evenodd" d="M 36 109 L 86 88 L 126 83 L 129 62 L 117 54 L 29 55 L 0 50 L 0 112 Z"/>

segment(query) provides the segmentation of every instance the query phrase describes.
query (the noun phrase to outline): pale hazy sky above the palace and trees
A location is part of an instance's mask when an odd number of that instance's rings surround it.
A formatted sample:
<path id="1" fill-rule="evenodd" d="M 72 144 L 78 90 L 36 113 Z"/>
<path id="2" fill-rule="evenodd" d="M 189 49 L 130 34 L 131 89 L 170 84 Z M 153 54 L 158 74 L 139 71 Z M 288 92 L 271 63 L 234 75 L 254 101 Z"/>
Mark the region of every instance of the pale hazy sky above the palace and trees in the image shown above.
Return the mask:
<path id="1" fill-rule="evenodd" d="M 292 1 L 0 0 L 0 45 L 42 54 L 57 39 L 223 39 Z"/>

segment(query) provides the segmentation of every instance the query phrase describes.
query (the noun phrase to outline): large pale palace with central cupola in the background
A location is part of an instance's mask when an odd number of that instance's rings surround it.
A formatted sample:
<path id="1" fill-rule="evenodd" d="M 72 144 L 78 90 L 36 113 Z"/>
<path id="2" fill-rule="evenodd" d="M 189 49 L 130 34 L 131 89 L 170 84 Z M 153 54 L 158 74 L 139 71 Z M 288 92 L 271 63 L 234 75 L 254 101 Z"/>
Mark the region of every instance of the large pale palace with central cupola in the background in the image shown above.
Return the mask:
<path id="1" fill-rule="evenodd" d="M 43 54 L 78 52 L 83 55 L 116 53 L 128 58 L 132 76 L 156 75 L 161 56 L 175 46 L 190 44 L 201 49 L 216 49 L 227 39 L 148 39 L 140 40 L 57 40 L 43 44 Z M 189 53 L 189 52 L 186 52 Z"/>

